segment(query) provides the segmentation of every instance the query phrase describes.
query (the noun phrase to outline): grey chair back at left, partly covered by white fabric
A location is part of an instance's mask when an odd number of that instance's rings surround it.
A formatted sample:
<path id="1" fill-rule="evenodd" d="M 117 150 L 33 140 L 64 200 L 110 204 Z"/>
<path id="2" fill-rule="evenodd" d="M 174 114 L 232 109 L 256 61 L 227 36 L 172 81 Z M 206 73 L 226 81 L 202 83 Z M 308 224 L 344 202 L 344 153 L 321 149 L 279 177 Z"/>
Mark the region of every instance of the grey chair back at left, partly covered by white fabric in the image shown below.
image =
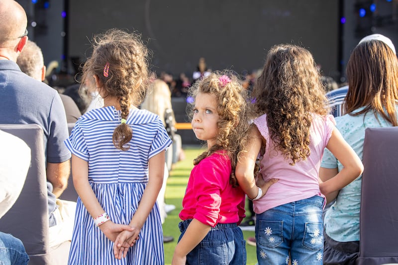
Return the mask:
<path id="1" fill-rule="evenodd" d="M 19 238 L 27 254 L 44 255 L 48 248 L 48 199 L 43 129 L 37 124 L 0 124 L 31 150 L 31 164 L 22 191 L 0 219 L 0 231 Z"/>

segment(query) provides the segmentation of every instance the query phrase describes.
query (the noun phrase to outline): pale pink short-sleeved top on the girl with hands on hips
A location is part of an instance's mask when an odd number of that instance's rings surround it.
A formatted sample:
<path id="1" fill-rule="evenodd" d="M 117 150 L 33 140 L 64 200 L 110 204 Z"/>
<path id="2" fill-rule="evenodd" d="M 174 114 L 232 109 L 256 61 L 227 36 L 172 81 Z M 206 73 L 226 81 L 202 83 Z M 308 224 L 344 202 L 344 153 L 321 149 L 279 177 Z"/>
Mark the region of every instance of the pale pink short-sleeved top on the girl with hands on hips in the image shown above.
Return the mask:
<path id="1" fill-rule="evenodd" d="M 268 189 L 264 197 L 253 201 L 254 212 L 263 213 L 289 202 L 315 195 L 323 196 L 319 190 L 318 173 L 323 151 L 336 124 L 334 117 L 332 115 L 312 115 L 310 155 L 305 161 L 299 160 L 296 162 L 294 166 L 289 165 L 292 162 L 291 159 L 285 159 L 280 151 L 275 150 L 275 144 L 270 139 L 267 115 L 264 114 L 256 118 L 254 124 L 267 142 L 265 154 L 260 161 L 260 172 L 264 180 L 279 179 Z"/>

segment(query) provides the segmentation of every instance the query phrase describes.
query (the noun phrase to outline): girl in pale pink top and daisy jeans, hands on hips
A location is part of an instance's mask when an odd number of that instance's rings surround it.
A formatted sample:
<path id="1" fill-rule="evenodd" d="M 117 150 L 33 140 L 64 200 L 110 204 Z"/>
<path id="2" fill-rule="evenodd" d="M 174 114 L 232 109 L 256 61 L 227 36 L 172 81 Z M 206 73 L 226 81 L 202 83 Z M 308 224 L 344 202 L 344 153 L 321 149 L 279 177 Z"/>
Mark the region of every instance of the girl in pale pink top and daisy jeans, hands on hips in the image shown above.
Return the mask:
<path id="1" fill-rule="evenodd" d="M 236 177 L 253 199 L 257 260 L 264 264 L 322 264 L 324 195 L 338 191 L 362 171 L 361 160 L 327 115 L 326 98 L 311 53 L 296 45 L 277 45 L 268 52 L 252 93 L 253 113 L 247 152 Z M 327 147 L 343 164 L 338 176 L 319 184 L 318 171 Z M 267 194 L 254 185 L 277 178 Z M 256 196 L 256 194 L 259 194 Z"/>

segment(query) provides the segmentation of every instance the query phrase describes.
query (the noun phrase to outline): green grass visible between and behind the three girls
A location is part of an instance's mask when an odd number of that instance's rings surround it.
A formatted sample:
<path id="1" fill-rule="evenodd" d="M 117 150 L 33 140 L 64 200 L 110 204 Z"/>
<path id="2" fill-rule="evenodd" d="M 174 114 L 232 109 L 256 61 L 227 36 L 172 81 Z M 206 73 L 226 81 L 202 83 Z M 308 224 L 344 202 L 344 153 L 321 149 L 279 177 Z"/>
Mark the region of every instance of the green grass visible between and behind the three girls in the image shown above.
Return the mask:
<path id="1" fill-rule="evenodd" d="M 193 168 L 193 160 L 201 153 L 201 151 L 202 150 L 199 147 L 184 148 L 185 159 L 174 165 L 173 170 L 170 173 L 170 177 L 167 180 L 166 203 L 176 205 L 176 209 L 168 214 L 163 224 L 164 235 L 174 237 L 174 242 L 164 244 L 166 265 L 171 264 L 174 249 L 180 236 L 178 223 L 181 220 L 178 215 L 182 209 L 182 201 L 185 193 L 185 188 L 187 187 L 188 178 Z M 245 239 L 247 239 L 248 237 L 254 237 L 254 232 L 243 231 L 243 236 Z M 255 265 L 257 263 L 256 248 L 250 245 L 246 245 L 246 251 L 247 265 Z"/>

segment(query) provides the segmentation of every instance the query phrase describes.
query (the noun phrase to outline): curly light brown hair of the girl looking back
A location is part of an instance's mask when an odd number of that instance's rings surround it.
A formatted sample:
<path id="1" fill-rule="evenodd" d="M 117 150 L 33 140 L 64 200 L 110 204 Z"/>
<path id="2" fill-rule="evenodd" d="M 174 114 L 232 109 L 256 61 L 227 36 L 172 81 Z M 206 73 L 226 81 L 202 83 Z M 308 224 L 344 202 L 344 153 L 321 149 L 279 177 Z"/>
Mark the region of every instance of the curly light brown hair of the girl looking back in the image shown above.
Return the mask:
<path id="1" fill-rule="evenodd" d="M 222 79 L 227 76 L 230 82 L 225 84 Z M 221 79 L 220 79 L 221 78 Z M 229 156 L 232 165 L 230 183 L 233 187 L 238 185 L 235 177 L 235 168 L 239 154 L 243 152 L 248 139 L 248 112 L 247 112 L 247 91 L 242 87 L 241 80 L 231 72 L 213 72 L 209 76 L 197 81 L 190 88 L 189 94 L 194 99 L 198 93 L 208 93 L 216 98 L 218 135 L 216 143 L 208 147 L 208 151 L 200 154 L 194 159 L 194 165 L 210 156 L 211 154 L 224 150 Z M 192 119 L 194 103 L 188 104 L 188 113 Z"/>

